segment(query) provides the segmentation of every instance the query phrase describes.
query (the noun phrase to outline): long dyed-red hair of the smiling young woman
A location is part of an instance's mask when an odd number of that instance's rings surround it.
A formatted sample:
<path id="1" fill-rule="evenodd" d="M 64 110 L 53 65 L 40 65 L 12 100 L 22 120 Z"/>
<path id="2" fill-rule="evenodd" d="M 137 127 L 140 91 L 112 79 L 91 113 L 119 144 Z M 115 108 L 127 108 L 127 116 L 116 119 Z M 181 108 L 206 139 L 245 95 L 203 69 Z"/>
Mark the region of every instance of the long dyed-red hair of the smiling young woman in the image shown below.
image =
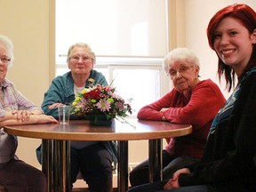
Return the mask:
<path id="1" fill-rule="evenodd" d="M 210 20 L 207 28 L 207 37 L 208 43 L 212 50 L 214 49 L 214 33 L 216 28 L 220 25 L 220 21 L 224 18 L 232 17 L 236 20 L 240 20 L 241 23 L 244 25 L 245 28 L 248 29 L 249 33 L 252 34 L 254 29 L 256 29 L 256 12 L 252 10 L 252 8 L 246 4 L 232 4 L 228 5 L 227 7 L 221 9 L 219 12 L 216 12 L 213 15 L 212 20 Z M 216 52 L 216 51 L 215 51 Z M 217 52 L 216 52 L 217 53 Z M 226 88 L 228 88 L 228 92 L 230 92 L 231 88 L 235 85 L 235 71 L 232 67 L 225 65 L 225 63 L 220 59 L 219 55 L 218 62 L 218 75 L 219 79 L 224 74 L 226 80 Z M 256 45 L 253 44 L 252 56 L 249 60 L 247 68 L 245 68 L 244 73 L 249 70 L 250 68 L 256 66 Z M 239 79 L 242 76 L 239 76 Z"/>

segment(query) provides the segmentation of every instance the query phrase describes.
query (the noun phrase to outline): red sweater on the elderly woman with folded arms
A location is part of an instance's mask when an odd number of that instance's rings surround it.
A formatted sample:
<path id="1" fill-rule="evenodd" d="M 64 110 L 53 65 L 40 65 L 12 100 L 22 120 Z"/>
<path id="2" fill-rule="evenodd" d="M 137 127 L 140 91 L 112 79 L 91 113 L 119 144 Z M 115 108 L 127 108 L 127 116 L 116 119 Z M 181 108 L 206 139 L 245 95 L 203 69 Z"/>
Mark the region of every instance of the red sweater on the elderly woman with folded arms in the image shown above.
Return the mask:
<path id="1" fill-rule="evenodd" d="M 196 84 L 189 99 L 176 89 L 172 89 L 160 100 L 141 108 L 137 117 L 161 121 L 165 116 L 173 124 L 192 124 L 191 134 L 171 138 L 165 149 L 174 157 L 201 158 L 212 120 L 225 101 L 218 85 L 208 79 Z M 163 113 L 160 112 L 162 108 L 169 109 Z"/>

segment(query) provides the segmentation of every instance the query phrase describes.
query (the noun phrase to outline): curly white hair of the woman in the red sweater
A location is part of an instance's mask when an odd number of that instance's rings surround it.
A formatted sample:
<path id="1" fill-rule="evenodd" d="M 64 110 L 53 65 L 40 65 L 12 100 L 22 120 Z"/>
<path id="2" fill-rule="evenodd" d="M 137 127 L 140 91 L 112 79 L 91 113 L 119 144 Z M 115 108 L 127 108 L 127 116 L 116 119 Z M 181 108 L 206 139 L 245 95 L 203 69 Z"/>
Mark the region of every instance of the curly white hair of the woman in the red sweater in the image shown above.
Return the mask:
<path id="1" fill-rule="evenodd" d="M 172 64 L 178 60 L 186 60 L 193 67 L 200 67 L 199 60 L 196 56 L 196 53 L 192 52 L 186 47 L 179 47 L 173 49 L 164 57 L 163 68 L 167 74 L 169 74 L 169 70 Z"/>

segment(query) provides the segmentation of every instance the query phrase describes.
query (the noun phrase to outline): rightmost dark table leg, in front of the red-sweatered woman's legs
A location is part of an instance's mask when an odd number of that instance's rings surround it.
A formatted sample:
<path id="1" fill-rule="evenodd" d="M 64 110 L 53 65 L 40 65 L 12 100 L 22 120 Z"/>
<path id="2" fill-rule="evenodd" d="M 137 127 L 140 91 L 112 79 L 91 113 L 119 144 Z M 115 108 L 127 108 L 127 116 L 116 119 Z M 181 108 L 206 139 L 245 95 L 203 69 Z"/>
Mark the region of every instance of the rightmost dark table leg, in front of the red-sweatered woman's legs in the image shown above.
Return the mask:
<path id="1" fill-rule="evenodd" d="M 149 182 L 156 181 L 154 173 L 159 172 L 160 180 L 163 180 L 163 161 L 162 161 L 163 140 L 148 140 L 148 162 L 149 162 Z"/>

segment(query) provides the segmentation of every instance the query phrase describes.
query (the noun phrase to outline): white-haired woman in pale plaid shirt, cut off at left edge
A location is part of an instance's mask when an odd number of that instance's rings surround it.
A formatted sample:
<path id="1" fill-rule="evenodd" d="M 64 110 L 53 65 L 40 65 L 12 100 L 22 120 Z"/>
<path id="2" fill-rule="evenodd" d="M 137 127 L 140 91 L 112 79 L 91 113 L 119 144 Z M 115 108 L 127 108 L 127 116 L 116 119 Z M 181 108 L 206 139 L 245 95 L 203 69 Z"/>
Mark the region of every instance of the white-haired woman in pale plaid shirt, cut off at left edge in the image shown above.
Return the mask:
<path id="1" fill-rule="evenodd" d="M 17 137 L 4 132 L 5 125 L 58 123 L 26 99 L 5 78 L 14 60 L 12 41 L 0 35 L 0 191 L 45 192 L 44 173 L 15 156 Z"/>

